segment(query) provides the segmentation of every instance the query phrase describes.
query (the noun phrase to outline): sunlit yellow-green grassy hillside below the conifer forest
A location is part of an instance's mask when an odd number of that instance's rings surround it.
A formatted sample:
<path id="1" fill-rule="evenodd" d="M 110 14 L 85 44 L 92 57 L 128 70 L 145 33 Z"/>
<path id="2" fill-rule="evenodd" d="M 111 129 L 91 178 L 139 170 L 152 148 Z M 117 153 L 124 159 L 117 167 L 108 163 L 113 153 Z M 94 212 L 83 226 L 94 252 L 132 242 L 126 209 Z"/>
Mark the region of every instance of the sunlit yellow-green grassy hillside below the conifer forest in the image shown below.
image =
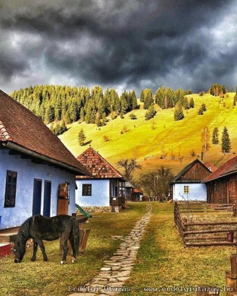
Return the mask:
<path id="1" fill-rule="evenodd" d="M 68 126 L 69 130 L 60 136 L 61 141 L 77 156 L 86 146 L 78 144 L 78 133 L 82 128 L 86 135 L 86 141 L 91 141 L 91 146 L 99 151 L 112 164 L 119 158 L 136 157 L 143 166 L 143 172 L 153 169 L 155 166 L 165 165 L 172 167 L 177 173 L 182 167 L 200 156 L 200 134 L 205 125 L 210 130 L 210 135 L 215 126 L 219 128 L 219 139 L 224 126 L 227 126 L 232 142 L 232 152 L 224 155 L 221 152 L 221 141 L 218 145 L 212 145 L 204 155 L 204 161 L 211 161 L 220 166 L 237 152 L 237 107 L 233 109 L 233 97 L 235 93 L 229 93 L 225 98 L 226 106 L 219 103 L 220 98 L 206 94 L 200 97 L 198 94 L 190 95 L 194 98 L 195 108 L 184 111 L 185 118 L 174 121 L 174 109 L 161 110 L 157 107 L 157 115 L 154 119 L 144 119 L 145 110 L 132 111 L 137 119 L 131 120 L 129 114 L 124 119 L 110 120 L 106 126 L 98 128 L 95 124 L 73 123 Z M 206 104 L 207 111 L 203 115 L 197 115 L 202 103 Z M 152 124 L 155 129 L 152 129 Z M 128 131 L 121 134 L 120 131 L 126 126 Z M 108 136 L 110 141 L 105 142 L 103 136 Z M 191 156 L 192 149 L 196 156 Z M 160 159 L 162 154 L 166 157 Z M 174 155 L 172 159 L 171 155 Z M 179 160 L 180 157 L 182 160 Z"/>

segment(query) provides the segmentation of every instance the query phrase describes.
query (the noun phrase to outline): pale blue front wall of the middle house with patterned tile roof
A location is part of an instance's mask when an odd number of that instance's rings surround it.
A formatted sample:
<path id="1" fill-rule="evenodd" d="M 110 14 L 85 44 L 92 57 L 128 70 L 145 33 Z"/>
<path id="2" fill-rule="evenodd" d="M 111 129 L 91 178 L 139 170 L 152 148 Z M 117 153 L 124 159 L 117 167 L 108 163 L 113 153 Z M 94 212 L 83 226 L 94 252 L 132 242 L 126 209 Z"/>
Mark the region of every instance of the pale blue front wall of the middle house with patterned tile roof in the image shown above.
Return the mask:
<path id="1" fill-rule="evenodd" d="M 110 180 L 77 180 L 76 203 L 79 206 L 109 206 Z M 91 196 L 82 195 L 82 184 L 91 184 Z"/>

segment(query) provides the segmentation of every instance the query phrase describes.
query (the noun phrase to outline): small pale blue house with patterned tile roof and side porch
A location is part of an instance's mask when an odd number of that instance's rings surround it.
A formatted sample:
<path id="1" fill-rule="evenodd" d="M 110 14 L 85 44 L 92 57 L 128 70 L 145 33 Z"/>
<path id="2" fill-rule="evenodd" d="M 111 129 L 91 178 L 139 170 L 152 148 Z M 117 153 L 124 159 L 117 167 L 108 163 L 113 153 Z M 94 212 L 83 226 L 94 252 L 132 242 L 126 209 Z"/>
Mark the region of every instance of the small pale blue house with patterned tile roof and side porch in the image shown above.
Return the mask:
<path id="1" fill-rule="evenodd" d="M 111 207 L 111 210 L 120 210 L 125 203 L 125 179 L 118 170 L 91 147 L 77 159 L 93 178 L 77 176 L 76 203 L 82 207 Z"/>

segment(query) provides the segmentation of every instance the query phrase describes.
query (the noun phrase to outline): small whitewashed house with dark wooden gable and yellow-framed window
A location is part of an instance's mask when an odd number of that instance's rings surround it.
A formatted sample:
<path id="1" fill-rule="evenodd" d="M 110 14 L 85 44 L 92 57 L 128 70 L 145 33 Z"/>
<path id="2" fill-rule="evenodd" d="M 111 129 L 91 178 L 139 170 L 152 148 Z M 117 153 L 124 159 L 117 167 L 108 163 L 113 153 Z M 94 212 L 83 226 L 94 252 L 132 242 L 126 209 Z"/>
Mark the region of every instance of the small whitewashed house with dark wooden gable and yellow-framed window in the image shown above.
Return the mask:
<path id="1" fill-rule="evenodd" d="M 211 171 L 195 159 L 187 165 L 170 183 L 170 196 L 173 200 L 206 201 L 206 185 L 201 183 Z"/>

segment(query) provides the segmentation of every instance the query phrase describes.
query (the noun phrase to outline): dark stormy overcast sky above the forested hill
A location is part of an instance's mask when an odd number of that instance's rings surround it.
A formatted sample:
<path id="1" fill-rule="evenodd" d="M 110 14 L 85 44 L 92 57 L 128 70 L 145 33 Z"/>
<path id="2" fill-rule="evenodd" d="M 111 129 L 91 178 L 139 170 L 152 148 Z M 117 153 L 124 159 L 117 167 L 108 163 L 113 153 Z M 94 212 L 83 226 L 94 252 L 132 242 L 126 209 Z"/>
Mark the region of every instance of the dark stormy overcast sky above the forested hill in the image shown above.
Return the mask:
<path id="1" fill-rule="evenodd" d="M 0 89 L 237 85 L 237 1 L 0 0 Z"/>

